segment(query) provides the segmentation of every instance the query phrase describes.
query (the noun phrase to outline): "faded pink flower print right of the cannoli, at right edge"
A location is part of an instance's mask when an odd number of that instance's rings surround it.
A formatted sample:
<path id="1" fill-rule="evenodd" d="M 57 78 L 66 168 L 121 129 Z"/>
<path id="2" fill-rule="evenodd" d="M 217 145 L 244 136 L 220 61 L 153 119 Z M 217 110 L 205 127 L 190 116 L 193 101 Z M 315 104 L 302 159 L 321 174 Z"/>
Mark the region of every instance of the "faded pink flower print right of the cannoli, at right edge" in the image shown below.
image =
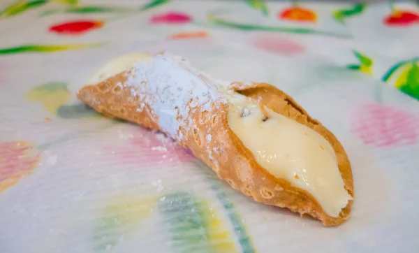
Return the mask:
<path id="1" fill-rule="evenodd" d="M 418 142 L 419 118 L 377 103 L 355 110 L 351 129 L 366 144 L 377 147 L 411 145 Z"/>

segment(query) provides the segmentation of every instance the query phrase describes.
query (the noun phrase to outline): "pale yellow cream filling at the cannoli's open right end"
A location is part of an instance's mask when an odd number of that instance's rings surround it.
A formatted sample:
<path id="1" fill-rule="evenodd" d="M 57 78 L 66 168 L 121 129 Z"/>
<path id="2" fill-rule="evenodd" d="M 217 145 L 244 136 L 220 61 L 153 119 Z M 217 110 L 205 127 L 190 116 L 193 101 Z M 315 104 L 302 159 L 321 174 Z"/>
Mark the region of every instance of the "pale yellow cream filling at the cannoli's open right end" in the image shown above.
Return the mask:
<path id="1" fill-rule="evenodd" d="M 237 100 L 235 100 L 237 102 Z M 342 180 L 332 145 L 316 131 L 245 97 L 232 103 L 228 124 L 274 177 L 308 191 L 331 217 L 352 199 Z M 265 121 L 264 121 L 265 120 Z"/>

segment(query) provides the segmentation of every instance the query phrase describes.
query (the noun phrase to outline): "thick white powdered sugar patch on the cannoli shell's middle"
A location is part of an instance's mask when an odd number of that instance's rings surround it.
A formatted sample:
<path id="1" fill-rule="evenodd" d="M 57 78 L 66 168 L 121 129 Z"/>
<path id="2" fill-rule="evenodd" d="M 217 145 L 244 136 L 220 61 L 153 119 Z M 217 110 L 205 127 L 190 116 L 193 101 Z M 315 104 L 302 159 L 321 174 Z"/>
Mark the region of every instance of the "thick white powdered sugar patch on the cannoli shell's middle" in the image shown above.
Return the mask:
<path id="1" fill-rule="evenodd" d="M 199 106 L 205 111 L 214 102 L 226 103 L 223 95 L 230 82 L 210 78 L 184 59 L 165 53 L 156 55 L 152 61 L 136 64 L 128 73 L 125 85 L 132 87 L 131 95 L 145 101 L 159 116 L 164 132 L 182 140 L 179 129 L 189 129 L 192 124 L 188 120 L 189 108 Z"/>

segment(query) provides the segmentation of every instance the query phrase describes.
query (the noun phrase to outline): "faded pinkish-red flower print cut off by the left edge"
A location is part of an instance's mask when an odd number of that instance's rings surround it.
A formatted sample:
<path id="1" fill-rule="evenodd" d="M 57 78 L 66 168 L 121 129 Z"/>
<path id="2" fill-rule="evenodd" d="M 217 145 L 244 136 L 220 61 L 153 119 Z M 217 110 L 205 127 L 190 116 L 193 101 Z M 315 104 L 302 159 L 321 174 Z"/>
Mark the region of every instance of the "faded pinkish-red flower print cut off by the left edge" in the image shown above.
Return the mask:
<path id="1" fill-rule="evenodd" d="M 25 141 L 0 143 L 0 192 L 34 170 L 41 152 Z"/>

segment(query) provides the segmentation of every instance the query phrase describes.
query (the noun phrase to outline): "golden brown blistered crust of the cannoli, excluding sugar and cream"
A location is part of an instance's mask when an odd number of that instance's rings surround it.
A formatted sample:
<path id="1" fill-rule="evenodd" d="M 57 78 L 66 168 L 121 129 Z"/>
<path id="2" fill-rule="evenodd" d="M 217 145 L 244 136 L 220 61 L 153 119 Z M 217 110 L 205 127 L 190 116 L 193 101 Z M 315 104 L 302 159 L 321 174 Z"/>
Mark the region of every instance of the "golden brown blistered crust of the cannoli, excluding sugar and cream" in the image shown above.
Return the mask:
<path id="1" fill-rule="evenodd" d="M 82 88 L 78 93 L 78 98 L 105 115 L 162 131 L 163 129 L 159 127 L 159 119 L 149 105 L 145 106 L 145 110 L 138 111 L 138 107 L 144 101 L 131 96 L 131 87 L 119 85 L 125 80 L 126 73 L 119 73 L 97 85 Z M 231 88 L 324 136 L 337 154 L 345 189 L 353 196 L 351 164 L 344 148 L 328 129 L 311 119 L 291 96 L 266 83 L 254 82 L 245 86 L 241 82 L 234 82 Z M 188 119 L 194 123 L 194 127 L 179 129 L 183 136 L 179 144 L 189 148 L 198 159 L 210 166 L 216 175 L 226 180 L 231 187 L 242 191 L 255 201 L 288 208 L 301 215 L 310 215 L 321 220 L 325 226 L 341 224 L 348 219 L 353 201 L 349 201 L 339 217 L 330 217 L 307 191 L 291 186 L 286 180 L 274 178 L 261 167 L 253 154 L 244 147 L 242 141 L 228 126 L 228 105 L 214 102 L 209 111 L 201 110 L 199 107 L 194 109 L 194 113 L 191 113 Z M 210 139 L 207 138 L 208 135 L 211 135 Z"/>

